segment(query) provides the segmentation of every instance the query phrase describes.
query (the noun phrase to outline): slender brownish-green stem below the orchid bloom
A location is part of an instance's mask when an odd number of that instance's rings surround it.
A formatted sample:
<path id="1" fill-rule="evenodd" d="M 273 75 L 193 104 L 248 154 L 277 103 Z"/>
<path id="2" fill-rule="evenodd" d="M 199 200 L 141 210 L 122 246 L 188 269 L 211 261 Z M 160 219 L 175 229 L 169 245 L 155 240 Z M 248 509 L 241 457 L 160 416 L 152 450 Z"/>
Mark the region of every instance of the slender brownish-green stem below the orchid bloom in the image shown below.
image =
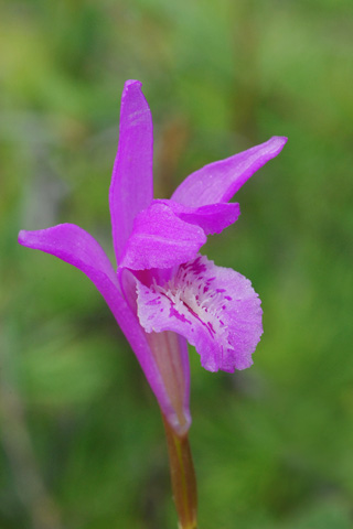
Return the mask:
<path id="1" fill-rule="evenodd" d="M 168 443 L 172 490 L 179 517 L 179 529 L 196 529 L 196 477 L 188 433 L 182 436 L 176 435 L 164 417 L 163 422 Z"/>

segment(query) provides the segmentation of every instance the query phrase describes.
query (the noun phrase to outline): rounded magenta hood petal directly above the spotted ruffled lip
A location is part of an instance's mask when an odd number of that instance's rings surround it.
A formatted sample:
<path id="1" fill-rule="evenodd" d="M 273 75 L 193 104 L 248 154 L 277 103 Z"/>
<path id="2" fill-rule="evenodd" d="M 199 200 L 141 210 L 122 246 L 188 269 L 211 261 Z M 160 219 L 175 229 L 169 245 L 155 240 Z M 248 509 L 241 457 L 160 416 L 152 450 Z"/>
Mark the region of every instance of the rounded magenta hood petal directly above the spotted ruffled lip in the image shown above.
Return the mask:
<path id="1" fill-rule="evenodd" d="M 163 202 L 153 202 L 136 217 L 119 268 L 171 268 L 195 257 L 205 242 L 203 229 L 181 220 Z"/>

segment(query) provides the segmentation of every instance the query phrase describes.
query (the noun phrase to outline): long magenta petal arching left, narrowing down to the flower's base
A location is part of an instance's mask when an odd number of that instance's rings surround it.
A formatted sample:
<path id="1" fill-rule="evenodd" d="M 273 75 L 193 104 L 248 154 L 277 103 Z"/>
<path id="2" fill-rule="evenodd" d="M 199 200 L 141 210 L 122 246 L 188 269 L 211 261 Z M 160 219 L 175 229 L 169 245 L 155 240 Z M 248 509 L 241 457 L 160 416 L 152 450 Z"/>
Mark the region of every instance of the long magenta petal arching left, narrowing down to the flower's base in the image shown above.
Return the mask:
<path id="1" fill-rule="evenodd" d="M 136 354 L 157 400 L 171 423 L 183 433 L 190 425 L 189 371 L 185 366 L 185 346 L 182 347 L 182 361 L 185 369 L 184 414 L 186 422 L 181 425 L 165 389 L 159 366 L 151 352 L 149 341 L 136 314 L 120 293 L 113 266 L 98 242 L 84 229 L 73 224 L 62 224 L 36 231 L 20 231 L 19 242 L 29 248 L 45 251 L 82 270 L 97 287 L 107 302 L 122 333 Z M 135 295 L 135 294 L 133 294 Z"/>

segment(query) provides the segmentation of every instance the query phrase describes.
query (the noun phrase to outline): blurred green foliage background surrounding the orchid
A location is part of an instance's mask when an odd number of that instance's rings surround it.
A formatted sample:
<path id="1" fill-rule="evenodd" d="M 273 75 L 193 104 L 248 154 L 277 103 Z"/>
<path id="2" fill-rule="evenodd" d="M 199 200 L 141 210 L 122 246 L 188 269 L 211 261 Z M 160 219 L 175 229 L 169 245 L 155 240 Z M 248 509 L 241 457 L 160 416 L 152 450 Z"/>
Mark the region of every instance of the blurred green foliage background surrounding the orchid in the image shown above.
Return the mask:
<path id="1" fill-rule="evenodd" d="M 176 527 L 159 410 L 109 310 L 17 244 L 72 222 L 113 257 L 128 78 L 151 106 L 158 197 L 289 137 L 205 248 L 252 279 L 265 334 L 234 375 L 191 350 L 200 528 L 353 528 L 352 0 L 0 6 L 1 529 Z"/>

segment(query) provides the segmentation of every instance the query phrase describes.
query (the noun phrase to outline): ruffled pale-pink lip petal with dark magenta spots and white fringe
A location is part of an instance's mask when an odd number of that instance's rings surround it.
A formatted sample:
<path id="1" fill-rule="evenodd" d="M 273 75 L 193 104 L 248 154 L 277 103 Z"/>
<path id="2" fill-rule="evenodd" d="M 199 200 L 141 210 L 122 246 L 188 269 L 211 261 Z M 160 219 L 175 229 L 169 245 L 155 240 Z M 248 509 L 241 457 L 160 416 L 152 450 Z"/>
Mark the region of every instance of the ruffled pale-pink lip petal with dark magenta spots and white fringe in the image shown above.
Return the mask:
<path id="1" fill-rule="evenodd" d="M 260 300 L 248 279 L 199 257 L 164 285 L 137 287 L 138 316 L 149 332 L 174 331 L 196 347 L 210 371 L 253 364 L 263 334 Z"/>

